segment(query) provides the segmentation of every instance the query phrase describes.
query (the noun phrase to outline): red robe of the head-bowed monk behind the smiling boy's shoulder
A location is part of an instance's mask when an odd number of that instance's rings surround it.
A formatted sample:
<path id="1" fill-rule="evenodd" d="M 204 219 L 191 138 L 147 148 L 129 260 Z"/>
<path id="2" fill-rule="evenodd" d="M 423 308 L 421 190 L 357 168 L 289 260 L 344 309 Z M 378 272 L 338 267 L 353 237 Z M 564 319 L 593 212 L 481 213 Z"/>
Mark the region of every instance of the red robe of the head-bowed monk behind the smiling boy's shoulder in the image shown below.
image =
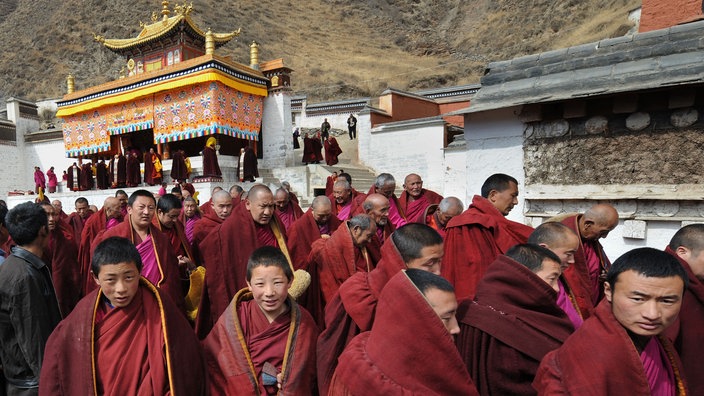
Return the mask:
<path id="1" fill-rule="evenodd" d="M 328 239 L 313 243 L 308 257 L 308 271 L 316 271 L 320 281 L 323 301 L 332 300 L 342 282 L 357 272 L 369 272 L 376 266 L 366 248 L 352 243 L 347 222 Z"/>

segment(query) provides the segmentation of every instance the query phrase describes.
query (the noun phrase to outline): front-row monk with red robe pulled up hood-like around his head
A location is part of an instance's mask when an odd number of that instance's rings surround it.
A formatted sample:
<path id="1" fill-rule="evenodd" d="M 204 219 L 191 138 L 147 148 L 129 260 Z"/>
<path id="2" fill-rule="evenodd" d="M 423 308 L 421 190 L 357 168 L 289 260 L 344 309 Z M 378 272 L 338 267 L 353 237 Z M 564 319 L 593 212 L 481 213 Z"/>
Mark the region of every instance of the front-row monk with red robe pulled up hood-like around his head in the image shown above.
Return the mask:
<path id="1" fill-rule="evenodd" d="M 371 331 L 340 356 L 330 395 L 478 395 L 454 346 L 452 285 L 430 272 L 396 274 L 379 296 Z"/>

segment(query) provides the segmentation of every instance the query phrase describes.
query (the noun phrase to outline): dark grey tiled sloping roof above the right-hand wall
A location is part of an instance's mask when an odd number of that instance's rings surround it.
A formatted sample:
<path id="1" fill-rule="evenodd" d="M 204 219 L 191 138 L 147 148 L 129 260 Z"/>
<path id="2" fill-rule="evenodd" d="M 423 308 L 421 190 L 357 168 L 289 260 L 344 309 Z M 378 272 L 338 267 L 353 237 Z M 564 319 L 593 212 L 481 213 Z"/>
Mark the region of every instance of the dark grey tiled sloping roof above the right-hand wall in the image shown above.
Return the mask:
<path id="1" fill-rule="evenodd" d="M 704 21 L 492 62 L 467 110 L 704 82 Z"/>

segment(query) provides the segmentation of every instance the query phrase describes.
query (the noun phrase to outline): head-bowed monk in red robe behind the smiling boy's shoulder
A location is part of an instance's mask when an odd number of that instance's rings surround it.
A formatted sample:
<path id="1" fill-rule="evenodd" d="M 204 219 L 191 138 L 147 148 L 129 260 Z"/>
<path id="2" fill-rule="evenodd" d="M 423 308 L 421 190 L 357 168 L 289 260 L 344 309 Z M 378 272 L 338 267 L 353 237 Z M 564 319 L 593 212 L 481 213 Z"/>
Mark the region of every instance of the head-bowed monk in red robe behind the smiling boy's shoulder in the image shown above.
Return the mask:
<path id="1" fill-rule="evenodd" d="M 376 224 L 365 214 L 341 225 L 330 238 L 313 243 L 308 256 L 308 272 L 317 272 L 323 304 L 331 301 L 342 282 L 357 272 L 369 272 L 376 266 L 367 246 L 375 237 Z"/>

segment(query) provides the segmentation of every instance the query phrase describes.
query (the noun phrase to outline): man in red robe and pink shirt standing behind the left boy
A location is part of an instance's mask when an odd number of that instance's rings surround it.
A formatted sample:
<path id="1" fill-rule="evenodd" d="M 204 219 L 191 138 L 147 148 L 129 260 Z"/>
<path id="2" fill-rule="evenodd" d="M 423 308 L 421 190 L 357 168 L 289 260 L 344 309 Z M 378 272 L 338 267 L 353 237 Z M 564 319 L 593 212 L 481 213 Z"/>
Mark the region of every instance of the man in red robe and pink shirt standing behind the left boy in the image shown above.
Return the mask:
<path id="1" fill-rule="evenodd" d="M 129 239 L 142 257 L 141 275 L 160 288 L 164 295 L 168 295 L 176 306 L 183 309 L 184 299 L 178 259 L 169 238 L 152 224 L 155 213 L 156 199 L 152 193 L 147 190 L 133 192 L 127 201 L 125 220 L 98 234 L 93 245 L 113 236 Z M 93 288 L 95 286 L 88 291 L 92 291 Z"/>

